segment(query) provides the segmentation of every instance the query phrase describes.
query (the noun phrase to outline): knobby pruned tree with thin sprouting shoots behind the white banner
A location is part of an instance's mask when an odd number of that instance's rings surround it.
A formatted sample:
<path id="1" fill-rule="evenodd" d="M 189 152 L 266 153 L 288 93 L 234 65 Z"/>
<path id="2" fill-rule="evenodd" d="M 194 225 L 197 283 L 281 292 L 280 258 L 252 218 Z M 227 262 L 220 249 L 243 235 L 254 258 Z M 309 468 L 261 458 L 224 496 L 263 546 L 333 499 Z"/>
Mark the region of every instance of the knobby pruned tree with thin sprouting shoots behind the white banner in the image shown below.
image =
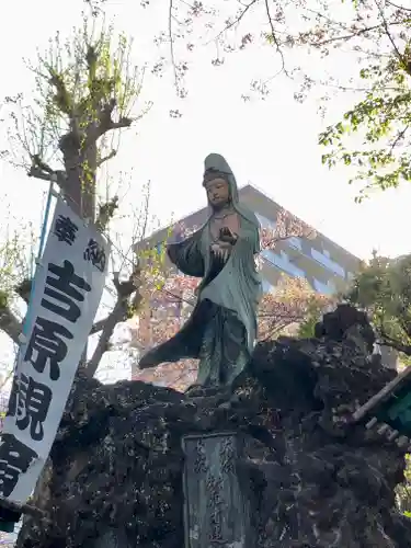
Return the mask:
<path id="1" fill-rule="evenodd" d="M 85 18 L 67 41 L 57 33 L 48 50 L 30 66 L 35 83 L 31 101 L 23 95 L 5 99 L 10 149 L 3 156 L 25 169 L 30 178 L 53 183 L 72 209 L 95 222 L 101 231 L 107 235 L 109 225 L 114 225 L 110 233 L 112 275 L 102 302 L 106 313 L 91 330 L 90 334 L 99 335 L 99 340 L 83 364 L 90 376 L 110 350 L 117 323 L 126 320 L 141 300 L 142 264 L 132 253 L 132 247 L 147 236 L 149 186 L 142 190 L 134 218 L 127 219 L 127 231 L 117 238 L 116 227 L 122 228 L 117 215 L 121 198 L 100 171 L 116 156 L 119 133 L 147 111 L 135 113 L 142 71 L 130 64 L 130 48 L 124 35 L 115 37 L 112 27 L 104 28 L 98 19 Z M 18 342 L 21 318 L 13 309 L 13 298 L 19 295 L 27 302 L 31 278 L 16 278 L 14 255 L 19 240 L 4 241 L 1 258 L 9 262 L 0 272 L 0 329 Z"/>

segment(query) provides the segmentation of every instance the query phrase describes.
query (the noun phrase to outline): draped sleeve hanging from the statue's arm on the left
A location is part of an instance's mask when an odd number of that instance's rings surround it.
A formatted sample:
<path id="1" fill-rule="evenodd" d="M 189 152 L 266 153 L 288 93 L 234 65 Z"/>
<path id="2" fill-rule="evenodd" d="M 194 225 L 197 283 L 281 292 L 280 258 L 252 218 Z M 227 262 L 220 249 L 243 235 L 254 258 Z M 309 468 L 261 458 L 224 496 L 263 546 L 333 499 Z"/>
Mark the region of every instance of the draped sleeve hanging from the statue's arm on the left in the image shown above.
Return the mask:
<path id="1" fill-rule="evenodd" d="M 203 277 L 205 265 L 201 250 L 202 230 L 179 243 L 169 243 L 167 253 L 170 261 L 187 276 Z"/>

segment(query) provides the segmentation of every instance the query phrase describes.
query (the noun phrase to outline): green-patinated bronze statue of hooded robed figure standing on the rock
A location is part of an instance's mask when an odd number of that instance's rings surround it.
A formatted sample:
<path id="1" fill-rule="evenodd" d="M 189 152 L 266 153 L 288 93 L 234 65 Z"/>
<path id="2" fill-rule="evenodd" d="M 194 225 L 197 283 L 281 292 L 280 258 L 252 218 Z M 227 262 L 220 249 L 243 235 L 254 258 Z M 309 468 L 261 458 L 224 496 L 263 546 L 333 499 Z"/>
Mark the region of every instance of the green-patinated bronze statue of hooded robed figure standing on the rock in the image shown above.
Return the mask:
<path id="1" fill-rule="evenodd" d="M 142 356 L 139 367 L 199 358 L 196 385 L 229 387 L 249 362 L 256 336 L 260 225 L 239 203 L 236 179 L 220 155 L 205 159 L 203 185 L 210 207 L 207 222 L 167 248 L 181 272 L 203 277 L 197 304 L 182 329 Z"/>

